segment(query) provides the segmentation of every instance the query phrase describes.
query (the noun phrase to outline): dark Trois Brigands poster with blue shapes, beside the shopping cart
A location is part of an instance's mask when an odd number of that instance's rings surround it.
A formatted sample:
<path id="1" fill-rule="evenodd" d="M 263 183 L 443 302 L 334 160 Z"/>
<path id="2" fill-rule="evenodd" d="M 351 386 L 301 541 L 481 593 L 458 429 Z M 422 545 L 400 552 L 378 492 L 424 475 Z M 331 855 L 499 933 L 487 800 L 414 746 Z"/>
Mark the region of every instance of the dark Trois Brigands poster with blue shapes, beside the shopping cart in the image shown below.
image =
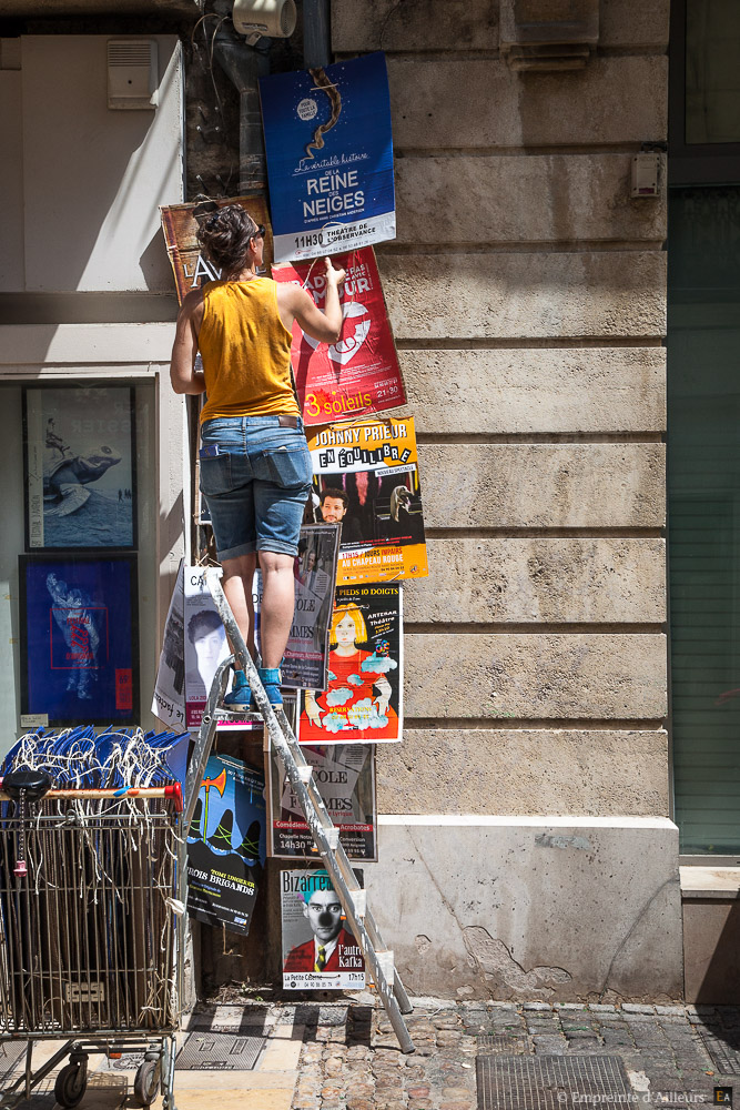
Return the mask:
<path id="1" fill-rule="evenodd" d="M 265 779 L 241 759 L 211 756 L 187 830 L 187 912 L 250 931 L 267 850 Z"/>

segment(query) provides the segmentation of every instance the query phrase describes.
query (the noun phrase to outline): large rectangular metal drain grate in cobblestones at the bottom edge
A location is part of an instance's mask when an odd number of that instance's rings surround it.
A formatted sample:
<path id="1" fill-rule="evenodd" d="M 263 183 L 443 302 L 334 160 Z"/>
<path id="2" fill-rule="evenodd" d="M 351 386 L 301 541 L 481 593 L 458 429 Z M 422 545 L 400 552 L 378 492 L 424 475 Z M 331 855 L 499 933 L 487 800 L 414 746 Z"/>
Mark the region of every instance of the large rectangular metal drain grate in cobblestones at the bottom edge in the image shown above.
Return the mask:
<path id="1" fill-rule="evenodd" d="M 478 1110 L 626 1106 L 635 1093 L 617 1056 L 479 1056 L 477 1077 Z"/>

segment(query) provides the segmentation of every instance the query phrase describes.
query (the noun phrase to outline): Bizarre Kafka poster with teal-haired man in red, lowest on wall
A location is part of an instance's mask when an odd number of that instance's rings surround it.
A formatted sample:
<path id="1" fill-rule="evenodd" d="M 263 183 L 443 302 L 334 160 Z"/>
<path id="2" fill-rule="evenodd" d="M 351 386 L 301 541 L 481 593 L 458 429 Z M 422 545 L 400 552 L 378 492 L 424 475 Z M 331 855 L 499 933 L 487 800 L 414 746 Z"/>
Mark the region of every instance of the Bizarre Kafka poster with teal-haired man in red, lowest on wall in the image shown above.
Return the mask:
<path id="1" fill-rule="evenodd" d="M 355 871 L 362 885 L 362 872 Z M 284 990 L 357 990 L 365 961 L 324 870 L 281 871 Z"/>

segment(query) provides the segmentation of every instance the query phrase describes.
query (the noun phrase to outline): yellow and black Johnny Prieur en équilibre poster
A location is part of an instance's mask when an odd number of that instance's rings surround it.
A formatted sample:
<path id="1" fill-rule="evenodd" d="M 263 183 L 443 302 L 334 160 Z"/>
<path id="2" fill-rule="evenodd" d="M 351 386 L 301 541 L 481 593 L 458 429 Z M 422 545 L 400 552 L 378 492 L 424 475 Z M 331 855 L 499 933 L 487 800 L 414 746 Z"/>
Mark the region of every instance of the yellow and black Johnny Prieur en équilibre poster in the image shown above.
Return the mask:
<path id="1" fill-rule="evenodd" d="M 314 468 L 307 513 L 342 524 L 337 586 L 425 578 L 422 484 L 414 418 L 308 430 Z"/>

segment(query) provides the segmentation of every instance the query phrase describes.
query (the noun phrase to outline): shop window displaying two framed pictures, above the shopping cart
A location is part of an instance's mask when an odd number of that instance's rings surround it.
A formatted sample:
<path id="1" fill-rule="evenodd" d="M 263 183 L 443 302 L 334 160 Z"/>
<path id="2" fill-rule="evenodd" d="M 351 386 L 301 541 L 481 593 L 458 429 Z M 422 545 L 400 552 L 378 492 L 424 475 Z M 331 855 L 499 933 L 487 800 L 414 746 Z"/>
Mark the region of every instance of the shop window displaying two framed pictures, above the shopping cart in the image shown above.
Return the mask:
<path id="1" fill-rule="evenodd" d="M 31 723 L 143 725 L 156 666 L 153 382 L 3 383 L 0 755 Z M 24 715 L 28 715 L 26 717 Z M 28 724 L 23 724 L 23 720 Z"/>

